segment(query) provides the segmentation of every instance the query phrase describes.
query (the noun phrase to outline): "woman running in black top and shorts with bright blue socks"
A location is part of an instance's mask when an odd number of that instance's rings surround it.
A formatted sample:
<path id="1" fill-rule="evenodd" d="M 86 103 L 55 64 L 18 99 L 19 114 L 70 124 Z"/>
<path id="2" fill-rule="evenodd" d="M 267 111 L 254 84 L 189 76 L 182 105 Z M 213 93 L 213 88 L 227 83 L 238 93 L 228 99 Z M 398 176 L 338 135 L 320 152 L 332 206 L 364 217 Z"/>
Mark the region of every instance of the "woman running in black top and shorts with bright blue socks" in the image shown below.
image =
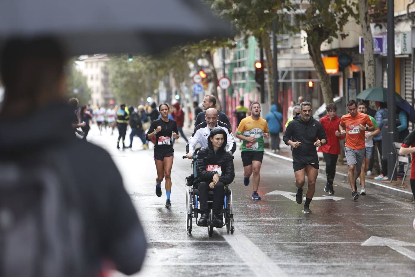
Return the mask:
<path id="1" fill-rule="evenodd" d="M 179 138 L 176 121 L 168 119 L 169 107 L 163 103 L 159 106 L 161 118 L 151 122 L 149 131 L 146 135 L 146 140 L 151 140 L 156 136 L 156 144 L 154 145 L 154 162 L 156 163 L 157 178 L 156 178 L 156 195 L 161 196 L 161 181 L 166 179 L 166 208 L 171 208 L 170 193 L 171 193 L 171 179 L 170 172 L 173 165 L 173 145 L 171 143 L 171 136 L 177 140 Z"/>

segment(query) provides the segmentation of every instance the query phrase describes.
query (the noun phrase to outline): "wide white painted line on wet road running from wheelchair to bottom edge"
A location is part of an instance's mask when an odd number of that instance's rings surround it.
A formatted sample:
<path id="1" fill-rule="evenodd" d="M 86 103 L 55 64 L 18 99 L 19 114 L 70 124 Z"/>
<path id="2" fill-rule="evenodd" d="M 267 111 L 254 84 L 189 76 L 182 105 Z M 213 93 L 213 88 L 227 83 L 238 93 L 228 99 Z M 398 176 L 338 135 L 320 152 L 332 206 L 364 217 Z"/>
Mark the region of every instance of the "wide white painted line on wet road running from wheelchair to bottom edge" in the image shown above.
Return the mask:
<path id="1" fill-rule="evenodd" d="M 288 276 L 281 267 L 276 265 L 246 236 L 241 233 L 234 233 L 233 235 L 224 234 L 222 236 L 256 276 Z M 258 268 L 261 270 L 258 270 Z"/>

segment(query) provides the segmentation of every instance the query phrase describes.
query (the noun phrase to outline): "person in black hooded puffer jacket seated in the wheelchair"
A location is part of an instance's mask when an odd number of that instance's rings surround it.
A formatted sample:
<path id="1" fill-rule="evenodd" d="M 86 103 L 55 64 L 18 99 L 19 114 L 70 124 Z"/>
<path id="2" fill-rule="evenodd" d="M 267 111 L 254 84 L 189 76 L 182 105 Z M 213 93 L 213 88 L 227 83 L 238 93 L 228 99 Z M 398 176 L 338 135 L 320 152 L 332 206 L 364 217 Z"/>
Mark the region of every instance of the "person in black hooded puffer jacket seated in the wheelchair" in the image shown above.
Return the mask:
<path id="1" fill-rule="evenodd" d="M 200 219 L 198 225 L 207 224 L 207 194 L 213 189 L 213 225 L 217 228 L 223 226 L 222 209 L 225 194 L 225 185 L 232 183 L 235 177 L 232 152 L 226 151 L 227 133 L 220 127 L 212 128 L 207 137 L 207 147 L 202 147 L 196 159 L 198 173 L 197 184 L 199 190 Z"/>

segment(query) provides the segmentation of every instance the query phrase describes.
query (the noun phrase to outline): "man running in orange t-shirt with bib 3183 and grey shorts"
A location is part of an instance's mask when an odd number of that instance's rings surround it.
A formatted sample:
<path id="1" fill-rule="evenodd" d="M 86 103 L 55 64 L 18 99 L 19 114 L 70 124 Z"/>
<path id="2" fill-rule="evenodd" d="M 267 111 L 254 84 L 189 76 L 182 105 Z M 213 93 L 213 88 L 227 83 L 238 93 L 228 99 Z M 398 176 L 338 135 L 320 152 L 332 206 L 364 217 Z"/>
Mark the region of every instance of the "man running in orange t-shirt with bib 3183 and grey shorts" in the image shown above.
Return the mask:
<path id="1" fill-rule="evenodd" d="M 342 116 L 339 130 L 342 136 L 346 136 L 344 154 L 349 167 L 348 179 L 352 188 L 352 199 L 356 200 L 359 198 L 359 194 L 354 184 L 360 175 L 362 162 L 366 154 L 364 133 L 365 130 L 373 131 L 375 127 L 368 115 L 357 111 L 356 101 L 350 100 L 347 102 L 347 110 L 349 110 L 349 113 Z M 366 127 L 366 125 L 369 127 Z"/>

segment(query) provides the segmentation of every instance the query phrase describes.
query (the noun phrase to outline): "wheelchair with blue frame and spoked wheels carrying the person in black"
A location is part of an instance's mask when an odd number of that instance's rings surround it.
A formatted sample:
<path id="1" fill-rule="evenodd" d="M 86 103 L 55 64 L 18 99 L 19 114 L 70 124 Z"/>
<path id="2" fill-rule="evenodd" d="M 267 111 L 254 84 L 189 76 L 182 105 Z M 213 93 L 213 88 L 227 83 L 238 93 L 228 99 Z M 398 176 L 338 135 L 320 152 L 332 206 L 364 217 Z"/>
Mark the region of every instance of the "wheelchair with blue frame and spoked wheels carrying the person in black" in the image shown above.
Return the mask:
<path id="1" fill-rule="evenodd" d="M 201 226 L 198 224 L 198 214 L 199 214 L 199 202 L 198 202 L 198 189 L 195 189 L 194 186 L 198 184 L 198 174 L 196 172 L 196 159 L 198 157 L 197 152 L 200 150 L 196 148 L 193 153 L 192 159 L 192 167 L 193 167 L 193 174 L 186 178 L 186 185 L 189 186 L 186 193 L 186 230 L 188 234 L 192 233 L 192 221 L 195 218 L 196 225 Z M 183 159 L 186 159 L 186 156 L 183 156 Z M 196 186 L 197 187 L 197 186 Z M 213 235 L 213 211 L 212 211 L 212 203 L 213 203 L 213 191 L 209 190 L 207 195 L 207 205 L 210 212 L 207 215 L 207 233 L 211 237 Z M 226 232 L 227 233 L 234 233 L 235 230 L 235 223 L 233 218 L 233 205 L 232 205 L 232 189 L 230 189 L 227 185 L 225 186 L 225 196 L 223 198 L 223 216 L 224 216 L 224 223 L 223 226 L 226 225 Z M 222 226 L 222 227 L 223 227 Z"/>

